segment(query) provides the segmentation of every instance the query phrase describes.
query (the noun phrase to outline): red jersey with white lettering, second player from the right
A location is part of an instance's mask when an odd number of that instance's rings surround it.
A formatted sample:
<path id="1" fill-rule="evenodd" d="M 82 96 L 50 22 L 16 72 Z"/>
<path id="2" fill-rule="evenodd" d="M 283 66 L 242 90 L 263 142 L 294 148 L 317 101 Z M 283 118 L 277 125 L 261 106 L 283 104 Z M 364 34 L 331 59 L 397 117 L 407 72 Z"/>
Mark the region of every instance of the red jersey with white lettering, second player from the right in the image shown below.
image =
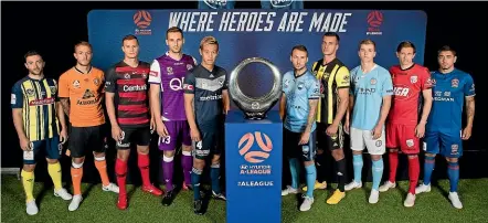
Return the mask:
<path id="1" fill-rule="evenodd" d="M 414 64 L 406 70 L 400 65 L 390 68 L 393 81 L 392 106 L 389 121 L 402 125 L 416 125 L 422 91 L 432 87 L 428 68 Z"/>

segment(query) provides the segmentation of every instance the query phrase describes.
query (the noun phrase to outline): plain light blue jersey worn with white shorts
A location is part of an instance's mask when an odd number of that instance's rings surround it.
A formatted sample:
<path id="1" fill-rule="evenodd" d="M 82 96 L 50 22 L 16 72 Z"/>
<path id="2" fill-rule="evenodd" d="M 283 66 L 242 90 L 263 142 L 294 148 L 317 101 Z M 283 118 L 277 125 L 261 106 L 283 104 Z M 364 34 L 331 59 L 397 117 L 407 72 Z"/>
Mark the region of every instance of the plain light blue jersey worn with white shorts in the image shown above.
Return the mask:
<path id="1" fill-rule="evenodd" d="M 390 72 L 376 64 L 363 74 L 359 65 L 351 71 L 350 89 L 354 97 L 351 127 L 372 130 L 380 119 L 383 96 L 393 95 Z"/>

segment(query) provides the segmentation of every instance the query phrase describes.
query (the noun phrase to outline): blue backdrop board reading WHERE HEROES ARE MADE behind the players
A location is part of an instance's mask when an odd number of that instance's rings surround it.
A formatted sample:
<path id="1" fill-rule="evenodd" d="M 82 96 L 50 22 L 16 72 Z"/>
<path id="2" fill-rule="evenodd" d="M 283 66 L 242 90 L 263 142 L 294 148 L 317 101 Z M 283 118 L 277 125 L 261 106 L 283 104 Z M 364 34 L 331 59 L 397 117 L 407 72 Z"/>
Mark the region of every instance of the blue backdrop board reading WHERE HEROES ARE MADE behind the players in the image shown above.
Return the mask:
<path id="1" fill-rule="evenodd" d="M 423 11 L 410 10 L 93 10 L 88 38 L 93 63 L 103 70 L 123 60 L 124 35 L 137 35 L 140 59 L 151 62 L 167 51 L 166 30 L 177 25 L 184 31 L 183 52 L 199 63 L 200 40 L 213 35 L 221 44 L 216 63 L 229 73 L 252 56 L 268 59 L 285 73 L 293 68 L 289 53 L 294 45 L 307 46 L 311 66 L 322 57 L 323 33 L 333 31 L 341 38 L 338 56 L 349 68 L 359 64 L 358 44 L 363 39 L 376 43 L 375 62 L 388 68 L 397 63 L 395 50 L 405 40 L 416 45 L 415 62 L 423 64 L 426 21 Z M 240 83 L 247 83 L 245 94 L 259 96 L 270 88 L 272 79 L 264 65 L 252 64 L 244 68 Z"/>

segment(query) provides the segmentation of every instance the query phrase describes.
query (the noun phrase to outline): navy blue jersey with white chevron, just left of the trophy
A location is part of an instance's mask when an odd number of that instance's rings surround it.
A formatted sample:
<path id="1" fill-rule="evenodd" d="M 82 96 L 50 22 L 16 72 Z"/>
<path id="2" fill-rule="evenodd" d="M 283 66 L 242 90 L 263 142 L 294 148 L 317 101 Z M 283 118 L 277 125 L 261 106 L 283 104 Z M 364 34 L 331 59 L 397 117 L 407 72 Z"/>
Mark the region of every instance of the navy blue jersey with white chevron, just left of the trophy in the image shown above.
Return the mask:
<path id="1" fill-rule="evenodd" d="M 190 70 L 184 77 L 184 94 L 194 95 L 194 115 L 197 125 L 206 126 L 222 121 L 222 91 L 227 89 L 227 72 L 214 66 L 209 71 L 201 64 Z"/>

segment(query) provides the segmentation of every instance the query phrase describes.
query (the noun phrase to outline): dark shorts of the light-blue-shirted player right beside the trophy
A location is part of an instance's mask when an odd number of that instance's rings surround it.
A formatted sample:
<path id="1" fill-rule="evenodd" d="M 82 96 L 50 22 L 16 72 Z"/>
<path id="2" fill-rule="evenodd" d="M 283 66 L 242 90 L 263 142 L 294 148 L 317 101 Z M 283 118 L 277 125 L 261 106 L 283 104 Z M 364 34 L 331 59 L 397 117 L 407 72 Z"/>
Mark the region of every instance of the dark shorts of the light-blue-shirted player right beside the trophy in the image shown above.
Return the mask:
<path id="1" fill-rule="evenodd" d="M 316 152 L 316 131 L 310 132 L 308 144 L 298 145 L 300 142 L 301 132 L 293 132 L 286 128 L 283 129 L 283 148 L 287 158 L 300 158 L 304 161 L 314 160 Z"/>

